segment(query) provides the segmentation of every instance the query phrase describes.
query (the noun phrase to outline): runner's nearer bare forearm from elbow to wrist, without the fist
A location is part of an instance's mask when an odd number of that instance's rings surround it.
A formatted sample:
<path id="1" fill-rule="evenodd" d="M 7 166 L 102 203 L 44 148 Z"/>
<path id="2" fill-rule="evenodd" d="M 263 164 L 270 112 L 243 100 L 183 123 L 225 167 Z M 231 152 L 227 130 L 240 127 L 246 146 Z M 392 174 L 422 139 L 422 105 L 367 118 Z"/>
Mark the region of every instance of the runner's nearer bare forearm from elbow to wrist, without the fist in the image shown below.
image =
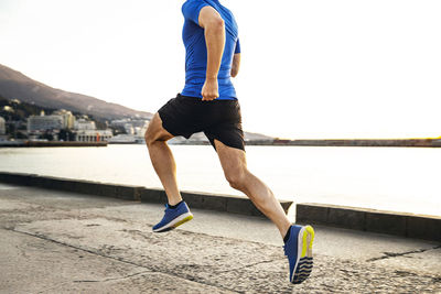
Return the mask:
<path id="1" fill-rule="evenodd" d="M 206 25 L 205 43 L 207 47 L 206 78 L 217 79 L 225 47 L 225 24 L 223 21 L 215 21 Z"/>

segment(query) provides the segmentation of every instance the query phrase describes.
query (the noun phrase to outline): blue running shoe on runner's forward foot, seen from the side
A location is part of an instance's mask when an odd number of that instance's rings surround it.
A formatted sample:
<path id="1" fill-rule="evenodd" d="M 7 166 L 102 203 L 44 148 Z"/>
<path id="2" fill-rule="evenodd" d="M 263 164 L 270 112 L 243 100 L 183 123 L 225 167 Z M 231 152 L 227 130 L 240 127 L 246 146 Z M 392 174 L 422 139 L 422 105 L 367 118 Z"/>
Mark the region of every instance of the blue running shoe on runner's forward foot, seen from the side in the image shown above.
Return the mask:
<path id="1" fill-rule="evenodd" d="M 189 206 L 185 202 L 180 203 L 174 209 L 170 208 L 169 205 L 165 204 L 164 217 L 160 222 L 153 226 L 153 231 L 169 231 L 191 219 L 193 219 L 193 215 L 190 213 Z"/>

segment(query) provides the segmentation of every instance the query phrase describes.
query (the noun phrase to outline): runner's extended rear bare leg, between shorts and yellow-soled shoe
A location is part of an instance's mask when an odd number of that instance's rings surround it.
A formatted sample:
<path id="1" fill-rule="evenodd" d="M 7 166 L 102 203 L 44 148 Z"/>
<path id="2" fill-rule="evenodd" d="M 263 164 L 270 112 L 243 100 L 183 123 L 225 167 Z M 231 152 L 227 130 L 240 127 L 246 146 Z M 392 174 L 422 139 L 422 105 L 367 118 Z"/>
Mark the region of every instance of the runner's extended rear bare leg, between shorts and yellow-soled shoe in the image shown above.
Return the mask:
<path id="1" fill-rule="evenodd" d="M 215 145 L 229 185 L 247 195 L 256 207 L 275 222 L 283 238 L 291 222 L 270 188 L 248 171 L 245 152 L 226 146 L 217 140 Z"/>

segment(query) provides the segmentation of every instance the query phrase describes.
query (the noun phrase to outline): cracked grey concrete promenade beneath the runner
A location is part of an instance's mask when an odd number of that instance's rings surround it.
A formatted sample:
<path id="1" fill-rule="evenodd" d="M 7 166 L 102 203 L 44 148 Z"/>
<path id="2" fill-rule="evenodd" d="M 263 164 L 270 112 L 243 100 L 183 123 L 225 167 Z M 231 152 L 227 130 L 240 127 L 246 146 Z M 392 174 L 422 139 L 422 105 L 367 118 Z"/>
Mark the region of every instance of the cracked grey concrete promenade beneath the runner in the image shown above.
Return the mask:
<path id="1" fill-rule="evenodd" d="M 268 220 L 0 184 L 0 293 L 441 293 L 441 244 L 315 226 L 301 285 Z"/>

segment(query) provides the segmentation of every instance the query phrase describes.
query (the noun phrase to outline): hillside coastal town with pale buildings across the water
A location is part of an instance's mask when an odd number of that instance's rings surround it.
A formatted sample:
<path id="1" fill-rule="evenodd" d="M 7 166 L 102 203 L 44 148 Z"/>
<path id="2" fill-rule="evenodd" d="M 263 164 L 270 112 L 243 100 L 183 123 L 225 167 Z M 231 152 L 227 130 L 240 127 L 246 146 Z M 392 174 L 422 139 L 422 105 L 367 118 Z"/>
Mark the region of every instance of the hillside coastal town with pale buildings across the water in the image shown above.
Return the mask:
<path id="1" fill-rule="evenodd" d="M 39 111 L 40 113 L 29 115 Z M 65 109 L 44 110 L 13 99 L 0 105 L 0 146 L 143 144 L 149 121 L 147 117 L 94 119 L 92 116 L 73 113 Z M 256 144 L 273 142 L 273 138 L 258 133 L 246 133 L 245 137 L 246 141 Z M 203 133 L 195 133 L 190 140 L 174 138 L 170 143 L 209 144 Z"/>

